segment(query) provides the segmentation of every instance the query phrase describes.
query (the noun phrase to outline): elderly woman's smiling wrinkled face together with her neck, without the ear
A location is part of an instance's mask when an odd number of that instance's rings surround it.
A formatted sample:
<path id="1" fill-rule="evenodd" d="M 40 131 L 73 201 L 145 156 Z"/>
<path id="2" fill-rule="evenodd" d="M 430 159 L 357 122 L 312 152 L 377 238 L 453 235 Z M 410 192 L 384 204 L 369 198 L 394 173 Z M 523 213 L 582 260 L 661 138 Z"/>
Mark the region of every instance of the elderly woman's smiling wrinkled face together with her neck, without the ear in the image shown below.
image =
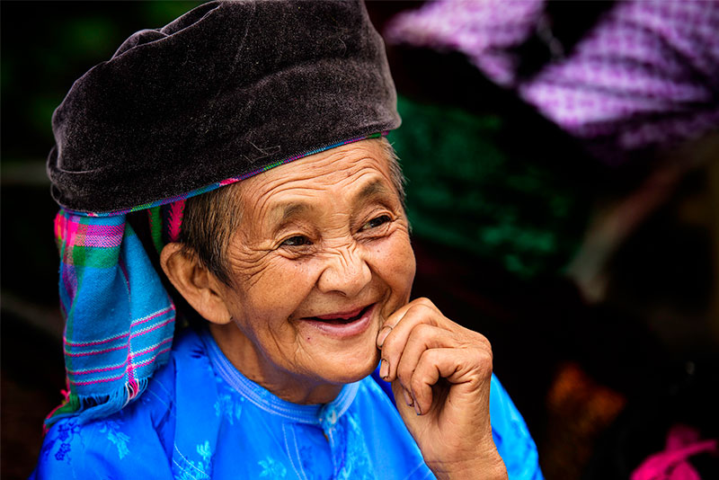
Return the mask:
<path id="1" fill-rule="evenodd" d="M 245 376 L 324 403 L 377 366 L 377 333 L 409 299 L 414 255 L 379 140 L 308 156 L 242 182 L 241 226 L 213 327 Z"/>

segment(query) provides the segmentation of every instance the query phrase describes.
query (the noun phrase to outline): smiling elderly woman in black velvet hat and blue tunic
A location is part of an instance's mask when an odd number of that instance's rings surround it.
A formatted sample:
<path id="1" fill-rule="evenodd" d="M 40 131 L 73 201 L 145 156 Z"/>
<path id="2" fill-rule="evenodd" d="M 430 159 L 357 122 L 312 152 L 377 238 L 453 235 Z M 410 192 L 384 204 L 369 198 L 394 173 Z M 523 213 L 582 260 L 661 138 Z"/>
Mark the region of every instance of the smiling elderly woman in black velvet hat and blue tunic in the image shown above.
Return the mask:
<path id="1" fill-rule="evenodd" d="M 203 4 L 75 82 L 33 478 L 541 478 L 489 342 L 409 301 L 398 126 L 356 2 Z"/>

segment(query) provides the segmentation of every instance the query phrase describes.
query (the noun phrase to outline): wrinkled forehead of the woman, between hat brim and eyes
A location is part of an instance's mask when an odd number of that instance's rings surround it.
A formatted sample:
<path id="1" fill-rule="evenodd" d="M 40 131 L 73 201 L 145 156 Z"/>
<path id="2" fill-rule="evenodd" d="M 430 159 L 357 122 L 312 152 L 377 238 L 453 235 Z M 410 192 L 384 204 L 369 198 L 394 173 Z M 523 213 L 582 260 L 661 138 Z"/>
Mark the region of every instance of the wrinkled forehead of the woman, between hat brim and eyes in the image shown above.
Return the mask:
<path id="1" fill-rule="evenodd" d="M 280 165 L 241 182 L 243 209 L 264 210 L 298 201 L 396 196 L 389 156 L 381 140 L 362 140 Z"/>

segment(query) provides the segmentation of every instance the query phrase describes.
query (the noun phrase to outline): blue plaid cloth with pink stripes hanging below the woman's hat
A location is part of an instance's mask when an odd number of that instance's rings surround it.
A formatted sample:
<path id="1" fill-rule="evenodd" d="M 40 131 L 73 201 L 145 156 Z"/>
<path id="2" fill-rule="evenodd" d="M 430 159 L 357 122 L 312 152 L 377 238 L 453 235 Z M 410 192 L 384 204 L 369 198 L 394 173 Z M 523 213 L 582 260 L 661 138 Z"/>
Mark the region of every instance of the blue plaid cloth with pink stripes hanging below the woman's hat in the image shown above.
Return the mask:
<path id="1" fill-rule="evenodd" d="M 69 392 L 46 424 L 103 418 L 140 396 L 170 357 L 175 309 L 125 216 L 60 210 L 60 300 Z"/>

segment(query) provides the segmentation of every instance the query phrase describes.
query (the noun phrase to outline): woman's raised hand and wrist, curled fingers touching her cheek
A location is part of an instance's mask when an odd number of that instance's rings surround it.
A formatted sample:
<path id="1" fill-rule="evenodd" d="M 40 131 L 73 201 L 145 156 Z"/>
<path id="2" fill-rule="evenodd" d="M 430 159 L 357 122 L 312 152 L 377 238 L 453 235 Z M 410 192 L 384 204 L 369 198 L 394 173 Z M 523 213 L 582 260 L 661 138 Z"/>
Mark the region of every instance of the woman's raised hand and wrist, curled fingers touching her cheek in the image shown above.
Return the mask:
<path id="1" fill-rule="evenodd" d="M 417 298 L 377 335 L 379 374 L 438 478 L 507 478 L 489 418 L 492 347 Z"/>

